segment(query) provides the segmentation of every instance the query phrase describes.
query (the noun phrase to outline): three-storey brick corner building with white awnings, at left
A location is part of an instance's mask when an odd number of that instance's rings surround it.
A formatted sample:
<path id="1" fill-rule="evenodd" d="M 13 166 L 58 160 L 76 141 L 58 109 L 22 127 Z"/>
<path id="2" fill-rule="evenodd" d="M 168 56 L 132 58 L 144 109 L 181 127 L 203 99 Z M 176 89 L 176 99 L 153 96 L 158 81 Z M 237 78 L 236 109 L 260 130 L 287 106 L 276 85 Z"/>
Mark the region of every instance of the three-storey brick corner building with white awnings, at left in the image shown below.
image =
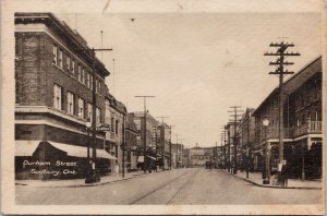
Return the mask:
<path id="1" fill-rule="evenodd" d="M 84 177 L 90 144 L 96 168 L 108 173 L 113 158 L 104 149 L 105 133 L 90 140 L 86 127 L 94 106 L 96 124 L 105 121 L 109 74 L 83 37 L 55 15 L 15 13 L 16 178 Z"/>

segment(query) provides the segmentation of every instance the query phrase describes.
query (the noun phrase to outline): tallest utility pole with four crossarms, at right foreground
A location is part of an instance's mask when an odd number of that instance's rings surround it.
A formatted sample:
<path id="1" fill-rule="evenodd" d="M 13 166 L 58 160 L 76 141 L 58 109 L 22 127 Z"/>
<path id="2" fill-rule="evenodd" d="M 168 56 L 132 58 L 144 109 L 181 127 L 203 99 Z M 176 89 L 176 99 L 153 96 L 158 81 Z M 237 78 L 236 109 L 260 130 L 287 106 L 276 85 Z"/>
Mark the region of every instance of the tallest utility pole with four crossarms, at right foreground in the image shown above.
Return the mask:
<path id="1" fill-rule="evenodd" d="M 287 74 L 293 74 L 293 71 L 284 71 L 284 65 L 291 65 L 294 64 L 294 62 L 286 61 L 286 57 L 294 57 L 300 56 L 299 52 L 287 52 L 286 50 L 289 47 L 294 47 L 294 44 L 288 44 L 288 43 L 271 43 L 269 47 L 276 47 L 276 52 L 265 52 L 264 56 L 274 56 L 277 57 L 277 60 L 275 62 L 270 61 L 269 65 L 276 65 L 277 69 L 272 72 L 269 72 L 269 74 L 277 74 L 279 75 L 279 127 L 278 127 L 278 133 L 279 133 L 279 164 L 282 164 L 283 160 L 283 76 Z"/>

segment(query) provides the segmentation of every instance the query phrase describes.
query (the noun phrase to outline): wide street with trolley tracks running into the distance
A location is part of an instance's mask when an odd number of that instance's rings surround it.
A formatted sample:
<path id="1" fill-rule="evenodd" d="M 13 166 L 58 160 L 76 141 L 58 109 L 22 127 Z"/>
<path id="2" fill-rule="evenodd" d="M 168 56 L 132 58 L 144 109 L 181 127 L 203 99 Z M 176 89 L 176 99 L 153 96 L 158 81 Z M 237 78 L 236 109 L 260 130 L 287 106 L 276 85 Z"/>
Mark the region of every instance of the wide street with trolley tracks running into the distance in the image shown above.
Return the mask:
<path id="1" fill-rule="evenodd" d="M 221 170 L 178 169 L 97 187 L 16 185 L 17 204 L 317 204 L 320 190 L 269 189 Z"/>

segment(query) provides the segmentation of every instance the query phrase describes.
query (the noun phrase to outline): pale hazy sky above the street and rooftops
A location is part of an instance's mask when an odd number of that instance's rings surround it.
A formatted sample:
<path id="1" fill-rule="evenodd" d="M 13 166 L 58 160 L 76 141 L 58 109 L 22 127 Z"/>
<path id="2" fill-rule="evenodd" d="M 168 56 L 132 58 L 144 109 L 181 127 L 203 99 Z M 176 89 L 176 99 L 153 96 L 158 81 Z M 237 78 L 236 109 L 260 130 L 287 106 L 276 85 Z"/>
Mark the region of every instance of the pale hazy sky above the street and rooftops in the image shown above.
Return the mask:
<path id="1" fill-rule="evenodd" d="M 220 145 L 231 106 L 256 108 L 278 85 L 269 75 L 271 41 L 295 45 L 301 68 L 322 55 L 318 13 L 64 13 L 55 14 L 86 39 L 111 74 L 106 83 L 128 111 L 167 116 L 173 139 L 192 147 Z M 102 31 L 102 37 L 100 32 Z M 114 59 L 114 64 L 113 64 Z M 158 119 L 159 120 L 159 119 Z"/>

